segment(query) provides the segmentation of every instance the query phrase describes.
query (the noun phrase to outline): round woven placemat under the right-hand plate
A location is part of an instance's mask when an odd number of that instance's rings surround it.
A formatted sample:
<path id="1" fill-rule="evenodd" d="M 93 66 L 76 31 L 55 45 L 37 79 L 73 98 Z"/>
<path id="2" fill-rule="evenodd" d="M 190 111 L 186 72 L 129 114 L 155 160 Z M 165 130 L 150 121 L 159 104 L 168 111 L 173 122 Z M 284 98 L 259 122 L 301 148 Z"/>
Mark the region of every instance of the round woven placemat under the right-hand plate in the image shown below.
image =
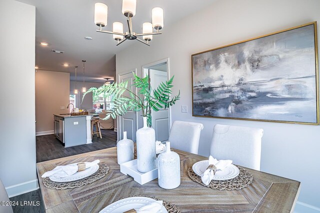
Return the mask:
<path id="1" fill-rule="evenodd" d="M 249 186 L 253 181 L 252 174 L 249 171 L 243 169 L 242 167 L 239 167 L 239 166 L 236 166 L 236 167 L 240 171 L 238 176 L 236 176 L 235 178 L 232 178 L 230 180 L 225 180 L 225 181 L 212 180 L 210 182 L 210 184 L 206 187 L 210 187 L 211 189 L 220 190 L 220 191 L 221 190 L 230 191 L 230 190 L 240 190 L 244 187 Z M 202 186 L 205 186 L 205 184 L 203 184 L 201 181 L 201 177 L 196 175 L 193 172 L 192 167 L 190 167 L 188 169 L 188 175 L 192 181 L 195 181 L 196 183 L 199 183 Z"/>

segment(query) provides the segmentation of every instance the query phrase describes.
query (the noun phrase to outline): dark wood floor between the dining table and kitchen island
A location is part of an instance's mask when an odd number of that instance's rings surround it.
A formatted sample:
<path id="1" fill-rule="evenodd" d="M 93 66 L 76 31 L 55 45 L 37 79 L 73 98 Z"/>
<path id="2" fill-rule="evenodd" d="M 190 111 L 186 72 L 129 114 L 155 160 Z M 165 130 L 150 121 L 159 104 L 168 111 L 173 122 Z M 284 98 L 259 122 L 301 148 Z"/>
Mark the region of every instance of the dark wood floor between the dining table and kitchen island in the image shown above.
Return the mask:
<path id="1" fill-rule="evenodd" d="M 94 135 L 92 144 L 68 148 L 64 148 L 62 143 L 59 142 L 53 134 L 36 136 L 36 162 L 53 160 L 116 146 L 116 132 L 113 130 L 101 130 L 101 133 L 102 139 L 97 138 L 96 135 Z"/>

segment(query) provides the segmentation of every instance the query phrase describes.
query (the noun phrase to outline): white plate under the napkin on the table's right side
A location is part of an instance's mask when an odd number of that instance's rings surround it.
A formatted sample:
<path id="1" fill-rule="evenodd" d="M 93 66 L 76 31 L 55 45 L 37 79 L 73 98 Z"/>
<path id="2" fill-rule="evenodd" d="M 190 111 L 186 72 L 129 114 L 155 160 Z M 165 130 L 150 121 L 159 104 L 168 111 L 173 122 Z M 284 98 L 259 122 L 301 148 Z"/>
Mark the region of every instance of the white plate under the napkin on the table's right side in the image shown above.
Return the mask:
<path id="1" fill-rule="evenodd" d="M 208 166 L 209 166 L 208 160 L 199 161 L 193 164 L 192 170 L 195 174 L 201 177 Z M 216 181 L 229 180 L 238 176 L 239 173 L 240 173 L 239 169 L 233 164 L 231 164 L 230 166 L 223 169 L 223 171 L 221 170 L 216 171 L 212 180 L 216 180 Z"/>

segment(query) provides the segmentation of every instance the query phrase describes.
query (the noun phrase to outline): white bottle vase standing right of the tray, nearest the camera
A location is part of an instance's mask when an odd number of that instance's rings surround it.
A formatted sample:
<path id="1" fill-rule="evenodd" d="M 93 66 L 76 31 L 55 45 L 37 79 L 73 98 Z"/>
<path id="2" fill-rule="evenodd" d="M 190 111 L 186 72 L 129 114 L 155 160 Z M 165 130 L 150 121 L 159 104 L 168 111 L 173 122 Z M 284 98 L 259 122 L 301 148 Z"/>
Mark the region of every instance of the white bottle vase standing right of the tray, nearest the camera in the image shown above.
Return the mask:
<path id="1" fill-rule="evenodd" d="M 180 157 L 170 150 L 170 142 L 165 147 L 166 151 L 158 155 L 158 184 L 170 190 L 180 186 Z"/>

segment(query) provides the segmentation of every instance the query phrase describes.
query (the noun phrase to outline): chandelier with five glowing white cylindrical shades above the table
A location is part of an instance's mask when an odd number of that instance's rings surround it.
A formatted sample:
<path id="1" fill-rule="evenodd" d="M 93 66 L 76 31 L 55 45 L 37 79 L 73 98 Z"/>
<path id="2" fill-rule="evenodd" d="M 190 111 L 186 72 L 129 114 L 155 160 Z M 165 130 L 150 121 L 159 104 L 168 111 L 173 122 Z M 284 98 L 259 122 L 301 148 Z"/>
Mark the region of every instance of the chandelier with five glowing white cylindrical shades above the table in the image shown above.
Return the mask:
<path id="1" fill-rule="evenodd" d="M 122 14 L 127 17 L 128 31 L 123 33 L 123 24 L 121 22 L 113 22 L 112 30 L 105 31 L 102 27 L 107 24 L 108 6 L 104 3 L 97 2 L 94 4 L 94 23 L 99 26 L 97 32 L 104 32 L 113 35 L 113 39 L 116 40 L 119 45 L 125 40 L 138 40 L 148 46 L 148 42 L 152 40 L 153 35 L 161 34 L 159 32 L 163 27 L 163 9 L 161 7 L 154 7 L 152 9 L 152 23 L 144 22 L 142 24 L 142 33 L 136 33 L 132 31 L 132 17 L 135 15 L 136 0 L 122 0 Z M 156 32 L 153 32 L 153 29 Z M 142 36 L 142 39 L 138 38 Z"/>

